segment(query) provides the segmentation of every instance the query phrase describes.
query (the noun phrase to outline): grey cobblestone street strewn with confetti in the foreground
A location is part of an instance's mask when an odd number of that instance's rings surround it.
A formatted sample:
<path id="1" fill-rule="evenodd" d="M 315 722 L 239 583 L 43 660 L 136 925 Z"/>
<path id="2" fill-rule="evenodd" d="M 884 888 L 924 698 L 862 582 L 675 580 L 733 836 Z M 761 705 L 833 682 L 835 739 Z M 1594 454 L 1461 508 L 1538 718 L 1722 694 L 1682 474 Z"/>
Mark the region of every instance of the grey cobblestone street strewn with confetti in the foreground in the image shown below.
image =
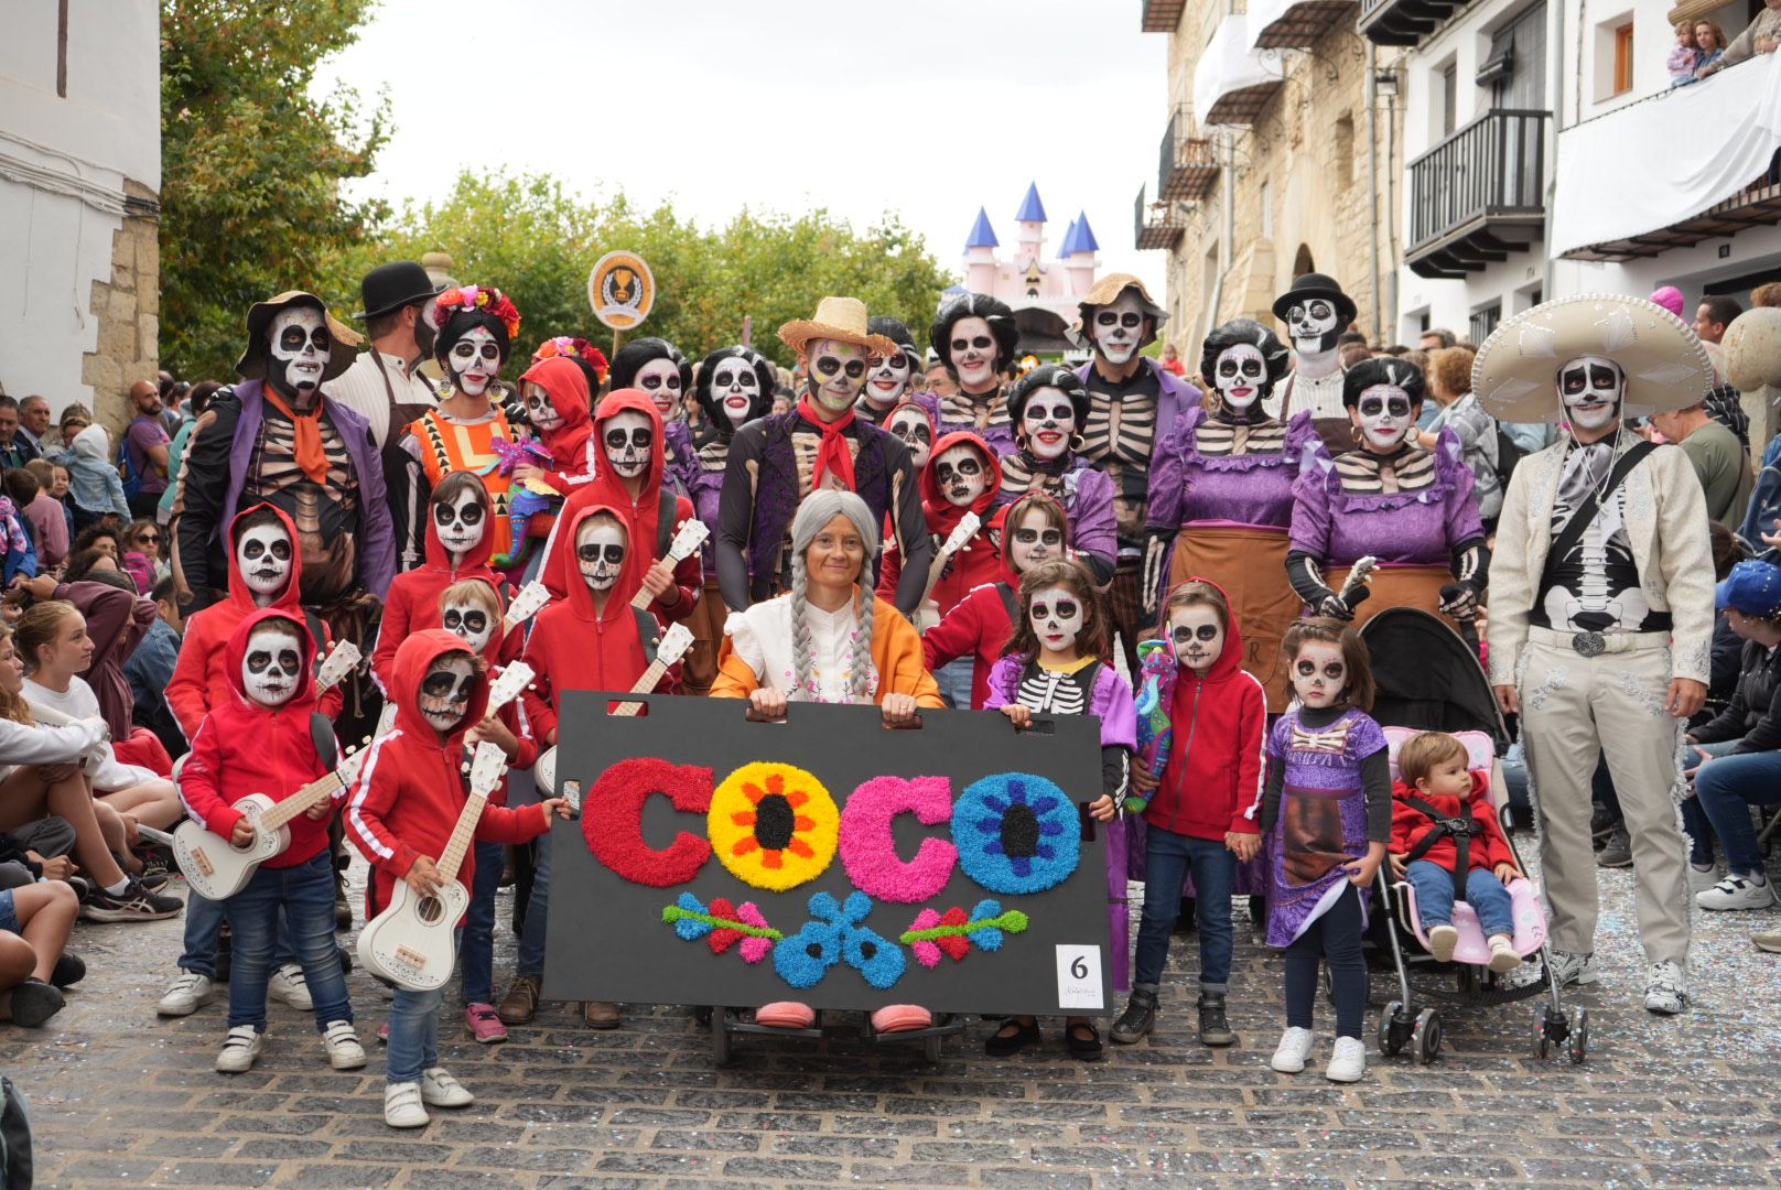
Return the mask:
<path id="1" fill-rule="evenodd" d="M 306 1014 L 274 1005 L 256 1069 L 216 1074 L 221 999 L 153 1014 L 180 921 L 82 926 L 93 974 L 52 1028 L 5 1033 L 4 1060 L 30 1099 L 39 1186 L 1781 1183 L 1781 957 L 1747 941 L 1776 916 L 1697 914 L 1696 1010 L 1658 1019 L 1640 1005 L 1630 889 L 1630 871 L 1603 878 L 1603 980 L 1576 998 L 1590 1014 L 1583 1065 L 1532 1056 L 1542 1001 L 1528 999 L 1450 1010 L 1428 1067 L 1380 1058 L 1370 1019 L 1359 1085 L 1323 1081 L 1327 1033 L 1311 1069 L 1275 1074 L 1279 960 L 1240 928 L 1227 1051 L 1191 1037 L 1190 937 L 1158 1031 L 1094 1065 L 1063 1055 L 1054 1023 L 1042 1053 L 1006 1064 L 983 1056 L 990 1026 L 972 1021 L 939 1065 L 914 1047 L 743 1039 L 714 1071 L 680 1008 L 597 1033 L 549 1005 L 488 1047 L 449 1014 L 442 1062 L 476 1104 L 397 1133 L 381 1119 L 386 1001 L 369 976 L 349 978 L 365 1071 L 328 1071 Z M 502 892 L 502 921 L 508 905 Z M 511 969 L 502 944 L 497 974 Z M 1375 1003 L 1387 987 L 1375 973 Z"/>

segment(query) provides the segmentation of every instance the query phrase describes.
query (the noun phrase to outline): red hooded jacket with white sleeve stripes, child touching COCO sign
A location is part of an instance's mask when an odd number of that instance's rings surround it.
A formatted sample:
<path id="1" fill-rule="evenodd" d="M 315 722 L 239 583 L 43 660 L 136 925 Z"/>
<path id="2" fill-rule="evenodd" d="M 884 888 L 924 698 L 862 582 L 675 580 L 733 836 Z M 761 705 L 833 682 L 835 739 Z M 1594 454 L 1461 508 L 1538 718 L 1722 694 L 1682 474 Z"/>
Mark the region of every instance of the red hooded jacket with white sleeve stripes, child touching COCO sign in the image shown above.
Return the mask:
<path id="1" fill-rule="evenodd" d="M 390 889 L 422 855 L 438 860 L 458 827 L 458 814 L 470 800 L 463 778 L 463 738 L 483 721 L 488 679 L 470 693 L 470 713 L 451 736 L 440 736 L 420 716 L 420 679 L 449 652 L 470 647 L 445 629 L 413 632 L 395 650 L 390 697 L 395 727 L 370 745 L 358 780 L 347 795 L 346 832 L 360 855 L 370 860 L 372 880 L 365 889 L 365 916 L 374 917 L 390 903 Z M 549 828 L 545 811 L 533 803 L 516 811 L 488 805 L 476 827 L 483 843 L 529 843 Z M 465 852 L 458 882 L 476 878 L 476 850 Z"/>

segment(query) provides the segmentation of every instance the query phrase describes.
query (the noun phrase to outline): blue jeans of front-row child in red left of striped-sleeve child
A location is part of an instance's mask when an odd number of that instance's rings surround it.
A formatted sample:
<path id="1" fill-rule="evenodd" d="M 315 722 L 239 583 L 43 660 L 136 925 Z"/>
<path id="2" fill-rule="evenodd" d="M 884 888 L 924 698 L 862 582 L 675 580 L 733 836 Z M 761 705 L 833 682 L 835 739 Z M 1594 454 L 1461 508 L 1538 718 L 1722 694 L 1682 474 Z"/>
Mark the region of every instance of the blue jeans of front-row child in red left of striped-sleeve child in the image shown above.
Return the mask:
<path id="1" fill-rule="evenodd" d="M 265 982 L 272 973 L 280 909 L 315 1001 L 317 1031 L 333 1021 L 351 1021 L 353 1005 L 333 941 L 333 857 L 322 848 L 296 868 L 260 868 L 240 892 L 223 901 L 235 935 L 228 1026 L 251 1024 L 265 1031 Z"/>

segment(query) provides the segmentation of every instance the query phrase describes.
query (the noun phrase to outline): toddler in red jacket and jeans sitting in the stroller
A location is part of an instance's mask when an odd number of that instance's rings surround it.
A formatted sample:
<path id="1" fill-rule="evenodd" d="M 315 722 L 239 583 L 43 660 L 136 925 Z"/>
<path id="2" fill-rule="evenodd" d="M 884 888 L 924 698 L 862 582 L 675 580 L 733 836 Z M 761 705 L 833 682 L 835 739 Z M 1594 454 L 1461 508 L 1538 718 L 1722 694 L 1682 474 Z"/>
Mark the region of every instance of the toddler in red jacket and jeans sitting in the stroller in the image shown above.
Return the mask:
<path id="1" fill-rule="evenodd" d="M 1391 871 L 1416 889 L 1416 917 L 1435 962 L 1453 958 L 1453 898 L 1459 894 L 1464 839 L 1464 900 L 1478 914 L 1491 946 L 1491 971 L 1514 971 L 1516 910 L 1507 885 L 1521 875 L 1491 805 L 1491 778 L 1466 770 L 1466 745 L 1446 732 L 1423 732 L 1398 750 L 1391 789 Z M 1471 821 L 1464 835 L 1444 823 Z"/>

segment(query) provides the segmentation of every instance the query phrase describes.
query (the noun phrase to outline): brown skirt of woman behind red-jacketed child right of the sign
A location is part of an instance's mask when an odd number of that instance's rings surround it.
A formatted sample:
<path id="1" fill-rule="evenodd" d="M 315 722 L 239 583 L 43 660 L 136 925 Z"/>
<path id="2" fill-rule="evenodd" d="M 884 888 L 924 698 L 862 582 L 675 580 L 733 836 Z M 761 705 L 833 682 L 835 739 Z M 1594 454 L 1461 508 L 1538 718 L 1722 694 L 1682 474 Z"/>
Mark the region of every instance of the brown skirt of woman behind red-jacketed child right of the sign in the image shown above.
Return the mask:
<path id="1" fill-rule="evenodd" d="M 1183 526 L 1168 563 L 1170 590 L 1191 577 L 1224 588 L 1243 631 L 1243 668 L 1268 691 L 1270 714 L 1284 711 L 1293 698 L 1281 638 L 1304 607 L 1286 581 L 1286 529 Z"/>

